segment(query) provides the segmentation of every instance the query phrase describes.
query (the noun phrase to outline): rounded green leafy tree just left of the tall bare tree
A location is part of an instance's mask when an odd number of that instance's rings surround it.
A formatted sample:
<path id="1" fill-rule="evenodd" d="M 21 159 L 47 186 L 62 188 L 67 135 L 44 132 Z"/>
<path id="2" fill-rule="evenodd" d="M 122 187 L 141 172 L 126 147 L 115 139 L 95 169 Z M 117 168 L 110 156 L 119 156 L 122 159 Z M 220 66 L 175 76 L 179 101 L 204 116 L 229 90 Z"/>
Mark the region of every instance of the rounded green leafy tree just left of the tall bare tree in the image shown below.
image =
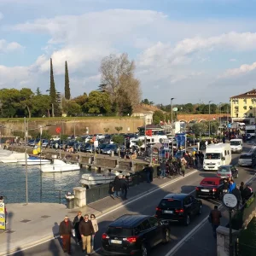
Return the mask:
<path id="1" fill-rule="evenodd" d="M 84 103 L 84 108 L 88 113 L 110 113 L 111 102 L 108 93 L 91 91 Z"/>

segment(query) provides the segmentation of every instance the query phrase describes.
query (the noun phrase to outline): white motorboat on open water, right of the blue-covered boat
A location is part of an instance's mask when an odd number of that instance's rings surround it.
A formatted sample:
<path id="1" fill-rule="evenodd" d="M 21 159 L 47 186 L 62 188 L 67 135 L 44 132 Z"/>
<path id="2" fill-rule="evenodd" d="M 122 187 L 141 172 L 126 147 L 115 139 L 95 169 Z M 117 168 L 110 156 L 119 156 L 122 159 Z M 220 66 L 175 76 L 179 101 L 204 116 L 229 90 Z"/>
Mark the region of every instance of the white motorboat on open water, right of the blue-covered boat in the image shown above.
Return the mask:
<path id="1" fill-rule="evenodd" d="M 42 172 L 70 172 L 79 170 L 79 164 L 67 164 L 58 159 L 55 159 L 52 165 L 44 165 L 41 167 Z"/>

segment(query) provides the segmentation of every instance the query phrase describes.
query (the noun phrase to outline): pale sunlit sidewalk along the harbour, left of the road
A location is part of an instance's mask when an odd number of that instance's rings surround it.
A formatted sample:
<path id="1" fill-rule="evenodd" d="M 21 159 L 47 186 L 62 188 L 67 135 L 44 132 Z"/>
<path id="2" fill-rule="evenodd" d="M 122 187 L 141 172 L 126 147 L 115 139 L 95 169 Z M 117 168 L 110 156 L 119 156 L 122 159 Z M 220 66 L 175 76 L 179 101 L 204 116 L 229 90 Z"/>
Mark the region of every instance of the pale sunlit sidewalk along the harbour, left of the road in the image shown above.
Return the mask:
<path id="1" fill-rule="evenodd" d="M 197 172 L 190 169 L 186 176 Z M 30 247 L 48 241 L 58 235 L 60 222 L 67 214 L 71 220 L 80 210 L 83 214 L 96 214 L 97 218 L 106 212 L 110 212 L 117 207 L 121 207 L 131 201 L 136 200 L 137 196 L 142 196 L 168 183 L 172 183 L 183 177 L 177 176 L 172 179 L 154 178 L 152 183 L 140 183 L 128 189 L 128 200 L 113 200 L 110 196 L 83 208 L 67 209 L 65 205 L 54 203 L 29 203 L 7 204 L 8 224 L 7 230 L 0 233 L 0 256 L 8 253 L 15 253 L 22 248 Z"/>

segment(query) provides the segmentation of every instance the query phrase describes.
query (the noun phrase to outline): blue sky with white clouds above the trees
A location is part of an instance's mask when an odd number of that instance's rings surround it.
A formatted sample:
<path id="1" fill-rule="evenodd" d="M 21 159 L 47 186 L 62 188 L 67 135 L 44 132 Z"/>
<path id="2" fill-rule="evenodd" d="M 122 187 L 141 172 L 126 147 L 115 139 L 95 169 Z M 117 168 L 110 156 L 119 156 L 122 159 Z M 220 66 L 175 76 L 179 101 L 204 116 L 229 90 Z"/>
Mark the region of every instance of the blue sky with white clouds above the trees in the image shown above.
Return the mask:
<path id="1" fill-rule="evenodd" d="M 229 102 L 256 88 L 255 0 L 0 0 L 0 89 L 96 90 L 110 54 L 136 63 L 142 99 Z"/>

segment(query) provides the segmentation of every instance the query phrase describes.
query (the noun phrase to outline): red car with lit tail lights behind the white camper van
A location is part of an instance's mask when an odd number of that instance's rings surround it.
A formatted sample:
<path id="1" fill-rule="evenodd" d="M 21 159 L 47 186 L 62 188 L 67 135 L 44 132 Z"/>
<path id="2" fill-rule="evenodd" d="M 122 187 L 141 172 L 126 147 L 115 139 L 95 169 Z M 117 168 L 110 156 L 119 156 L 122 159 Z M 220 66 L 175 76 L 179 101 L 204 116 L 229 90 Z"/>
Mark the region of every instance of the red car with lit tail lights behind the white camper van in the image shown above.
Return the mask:
<path id="1" fill-rule="evenodd" d="M 195 189 L 196 197 L 220 198 L 224 181 L 220 177 L 205 177 Z"/>

